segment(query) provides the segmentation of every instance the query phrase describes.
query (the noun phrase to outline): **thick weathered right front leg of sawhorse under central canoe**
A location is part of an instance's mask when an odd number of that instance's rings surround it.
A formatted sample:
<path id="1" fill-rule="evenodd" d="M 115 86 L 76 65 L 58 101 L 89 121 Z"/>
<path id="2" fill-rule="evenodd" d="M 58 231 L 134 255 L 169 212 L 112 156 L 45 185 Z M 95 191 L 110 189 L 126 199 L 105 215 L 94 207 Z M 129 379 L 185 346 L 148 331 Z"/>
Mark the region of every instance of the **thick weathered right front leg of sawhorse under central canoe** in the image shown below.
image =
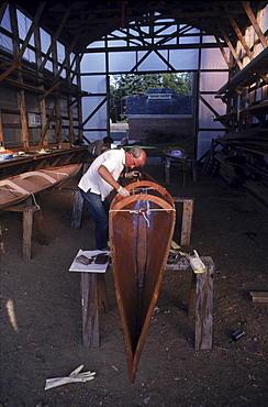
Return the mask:
<path id="1" fill-rule="evenodd" d="M 213 273 L 212 261 L 205 262 L 206 272 L 197 274 L 196 290 L 196 351 L 212 349 Z"/>

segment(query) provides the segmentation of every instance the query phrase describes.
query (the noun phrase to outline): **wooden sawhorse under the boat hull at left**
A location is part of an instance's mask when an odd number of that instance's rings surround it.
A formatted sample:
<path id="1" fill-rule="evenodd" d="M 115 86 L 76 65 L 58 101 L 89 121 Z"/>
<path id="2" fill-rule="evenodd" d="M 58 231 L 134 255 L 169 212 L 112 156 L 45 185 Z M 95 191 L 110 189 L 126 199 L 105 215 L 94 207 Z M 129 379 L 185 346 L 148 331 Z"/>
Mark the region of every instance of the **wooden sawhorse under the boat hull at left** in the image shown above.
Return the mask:
<path id="1" fill-rule="evenodd" d="M 29 197 L 22 204 L 7 207 L 3 209 L 3 211 L 22 212 L 22 257 L 23 260 L 31 260 L 33 222 L 35 222 L 38 230 L 40 244 L 47 244 L 44 220 L 40 206 L 33 204 L 33 198 Z"/>

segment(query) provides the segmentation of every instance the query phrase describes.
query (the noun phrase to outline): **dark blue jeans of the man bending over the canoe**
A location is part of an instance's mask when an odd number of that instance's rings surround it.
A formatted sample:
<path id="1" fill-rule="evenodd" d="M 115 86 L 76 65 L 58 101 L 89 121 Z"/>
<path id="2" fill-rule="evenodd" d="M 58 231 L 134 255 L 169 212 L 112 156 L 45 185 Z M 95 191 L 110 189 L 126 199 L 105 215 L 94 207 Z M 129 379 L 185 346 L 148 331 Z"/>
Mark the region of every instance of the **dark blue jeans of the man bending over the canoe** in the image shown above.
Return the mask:
<path id="1" fill-rule="evenodd" d="M 107 250 L 108 245 L 108 217 L 109 217 L 109 200 L 101 200 L 101 196 L 89 191 L 85 193 L 80 189 L 81 196 L 89 210 L 91 218 L 96 223 L 96 248 L 98 250 Z"/>

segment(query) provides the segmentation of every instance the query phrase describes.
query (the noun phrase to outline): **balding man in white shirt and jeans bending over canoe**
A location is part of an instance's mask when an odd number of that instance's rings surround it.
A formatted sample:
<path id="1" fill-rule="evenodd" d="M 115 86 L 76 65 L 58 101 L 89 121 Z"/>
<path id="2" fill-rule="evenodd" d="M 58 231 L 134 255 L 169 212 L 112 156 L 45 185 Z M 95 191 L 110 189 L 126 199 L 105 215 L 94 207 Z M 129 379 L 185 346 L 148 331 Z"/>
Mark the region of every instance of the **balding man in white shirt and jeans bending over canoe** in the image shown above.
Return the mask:
<path id="1" fill-rule="evenodd" d="M 98 250 L 107 250 L 108 245 L 108 196 L 113 189 L 122 197 L 130 196 L 127 189 L 119 183 L 124 167 L 135 168 L 144 165 L 146 153 L 134 146 L 129 152 L 124 150 L 108 150 L 99 155 L 81 177 L 78 187 L 85 204 L 96 223 L 96 246 Z M 138 170 L 125 173 L 125 178 L 134 178 L 139 175 Z"/>

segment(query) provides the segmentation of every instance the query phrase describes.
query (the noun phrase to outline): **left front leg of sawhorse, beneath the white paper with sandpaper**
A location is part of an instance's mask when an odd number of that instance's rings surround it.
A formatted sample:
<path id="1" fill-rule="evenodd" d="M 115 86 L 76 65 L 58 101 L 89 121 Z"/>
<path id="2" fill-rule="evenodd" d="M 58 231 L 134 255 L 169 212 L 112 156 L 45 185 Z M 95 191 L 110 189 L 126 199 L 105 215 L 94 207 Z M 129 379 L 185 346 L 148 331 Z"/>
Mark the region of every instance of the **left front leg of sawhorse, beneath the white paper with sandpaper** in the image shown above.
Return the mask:
<path id="1" fill-rule="evenodd" d="M 82 343 L 85 348 L 99 348 L 98 276 L 81 273 Z"/>

